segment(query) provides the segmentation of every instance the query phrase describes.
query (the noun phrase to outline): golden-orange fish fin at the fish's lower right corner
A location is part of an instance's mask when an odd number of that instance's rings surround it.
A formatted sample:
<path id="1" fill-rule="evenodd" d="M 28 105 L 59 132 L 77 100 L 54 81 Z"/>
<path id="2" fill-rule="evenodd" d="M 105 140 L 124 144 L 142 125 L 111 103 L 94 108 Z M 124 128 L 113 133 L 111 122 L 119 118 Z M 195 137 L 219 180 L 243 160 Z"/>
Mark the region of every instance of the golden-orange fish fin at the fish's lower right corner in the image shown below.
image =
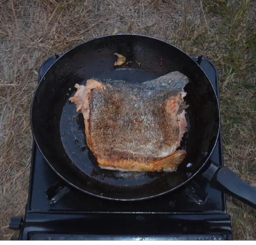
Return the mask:
<path id="1" fill-rule="evenodd" d="M 177 150 L 168 157 L 162 157 L 153 162 L 156 169 L 165 172 L 173 172 L 183 162 L 186 156 L 185 150 Z"/>

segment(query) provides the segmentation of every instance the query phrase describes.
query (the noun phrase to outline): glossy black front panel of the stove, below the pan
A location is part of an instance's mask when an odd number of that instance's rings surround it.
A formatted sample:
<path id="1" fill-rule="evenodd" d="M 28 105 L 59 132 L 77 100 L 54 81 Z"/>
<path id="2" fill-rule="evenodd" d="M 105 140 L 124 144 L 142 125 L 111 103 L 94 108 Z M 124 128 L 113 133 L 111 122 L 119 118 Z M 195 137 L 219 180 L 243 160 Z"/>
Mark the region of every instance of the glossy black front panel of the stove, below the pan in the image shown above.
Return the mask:
<path id="1" fill-rule="evenodd" d="M 29 213 L 24 221 L 12 219 L 11 226 L 20 230 L 19 241 L 233 240 L 226 214 Z"/>

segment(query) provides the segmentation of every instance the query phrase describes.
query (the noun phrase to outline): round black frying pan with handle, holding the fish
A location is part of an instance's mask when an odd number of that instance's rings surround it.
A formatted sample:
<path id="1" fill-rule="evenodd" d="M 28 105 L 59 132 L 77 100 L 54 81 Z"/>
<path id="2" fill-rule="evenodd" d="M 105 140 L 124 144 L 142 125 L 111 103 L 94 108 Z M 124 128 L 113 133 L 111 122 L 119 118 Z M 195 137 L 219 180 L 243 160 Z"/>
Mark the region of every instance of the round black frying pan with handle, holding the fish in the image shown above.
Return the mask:
<path id="1" fill-rule="evenodd" d="M 114 67 L 116 52 L 129 64 Z M 185 87 L 190 107 L 186 114 L 189 131 L 182 142 L 187 151 L 183 163 L 173 173 L 100 169 L 87 147 L 83 115 L 68 101 L 75 94 L 74 85 L 86 84 L 91 78 L 145 82 L 171 71 L 180 71 L 190 79 Z M 229 168 L 209 160 L 220 132 L 220 106 L 209 78 L 188 54 L 160 39 L 109 35 L 90 39 L 62 54 L 36 88 L 31 127 L 49 166 L 84 193 L 110 200 L 143 200 L 170 193 L 202 174 L 211 187 L 256 207 L 256 189 Z"/>

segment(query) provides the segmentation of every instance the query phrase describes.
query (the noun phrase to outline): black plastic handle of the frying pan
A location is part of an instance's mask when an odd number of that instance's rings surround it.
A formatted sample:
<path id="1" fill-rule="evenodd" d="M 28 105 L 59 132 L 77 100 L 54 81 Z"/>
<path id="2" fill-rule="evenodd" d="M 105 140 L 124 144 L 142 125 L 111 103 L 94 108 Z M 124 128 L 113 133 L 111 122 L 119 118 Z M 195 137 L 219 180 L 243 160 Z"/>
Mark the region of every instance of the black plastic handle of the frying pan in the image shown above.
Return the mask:
<path id="1" fill-rule="evenodd" d="M 211 165 L 202 175 L 209 181 L 210 187 L 256 209 L 256 189 L 239 178 L 230 168 L 211 161 Z"/>

